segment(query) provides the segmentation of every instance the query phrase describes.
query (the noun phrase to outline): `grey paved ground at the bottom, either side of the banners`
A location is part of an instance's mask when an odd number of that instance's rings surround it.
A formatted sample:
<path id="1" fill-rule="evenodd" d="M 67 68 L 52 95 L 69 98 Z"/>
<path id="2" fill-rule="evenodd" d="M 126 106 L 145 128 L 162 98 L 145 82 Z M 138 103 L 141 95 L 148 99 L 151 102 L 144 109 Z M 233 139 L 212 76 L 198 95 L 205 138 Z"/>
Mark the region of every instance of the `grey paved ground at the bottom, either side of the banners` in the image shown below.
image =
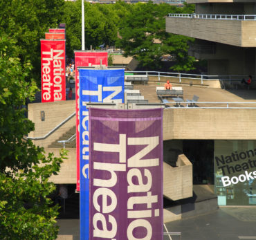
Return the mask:
<path id="1" fill-rule="evenodd" d="M 60 219 L 58 240 L 78 240 L 79 219 Z M 221 207 L 217 212 L 166 224 L 169 232 L 181 232 L 172 240 L 256 239 L 256 207 Z M 122 240 L 122 239 L 118 239 Z M 152 239 L 158 240 L 158 239 Z M 164 240 L 170 240 L 165 236 Z"/>

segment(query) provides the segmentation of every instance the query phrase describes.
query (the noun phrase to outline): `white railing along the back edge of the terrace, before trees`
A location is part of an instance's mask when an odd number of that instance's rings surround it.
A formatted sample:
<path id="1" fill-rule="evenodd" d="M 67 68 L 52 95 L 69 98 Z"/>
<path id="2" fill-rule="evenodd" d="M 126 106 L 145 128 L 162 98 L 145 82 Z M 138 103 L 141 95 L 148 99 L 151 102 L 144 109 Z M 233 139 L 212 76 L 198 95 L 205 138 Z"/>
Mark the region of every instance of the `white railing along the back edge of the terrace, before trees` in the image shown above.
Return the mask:
<path id="1" fill-rule="evenodd" d="M 192 73 L 169 73 L 169 72 L 157 72 L 157 71 L 125 71 L 126 76 L 129 75 L 146 75 L 158 77 L 158 81 L 160 81 L 161 77 L 174 77 L 179 79 L 179 83 L 182 83 L 184 79 L 191 79 L 191 80 L 200 80 L 201 84 L 204 81 L 214 81 L 214 80 L 221 80 L 221 81 L 228 81 L 237 82 L 244 78 L 248 78 L 248 75 L 203 75 L 203 74 L 192 74 Z"/>

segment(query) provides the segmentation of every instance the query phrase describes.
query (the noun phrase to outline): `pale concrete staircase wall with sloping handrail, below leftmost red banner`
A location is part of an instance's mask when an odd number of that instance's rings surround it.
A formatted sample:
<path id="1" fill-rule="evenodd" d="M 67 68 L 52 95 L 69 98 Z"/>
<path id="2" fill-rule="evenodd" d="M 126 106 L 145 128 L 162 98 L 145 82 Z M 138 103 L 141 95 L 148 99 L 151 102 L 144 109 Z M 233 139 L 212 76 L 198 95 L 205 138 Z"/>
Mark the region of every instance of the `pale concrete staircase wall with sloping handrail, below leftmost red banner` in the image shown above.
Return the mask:
<path id="1" fill-rule="evenodd" d="M 41 111 L 45 113 L 44 121 L 40 117 Z M 46 133 L 57 127 L 68 116 L 71 116 L 74 111 L 75 100 L 28 104 L 28 119 L 35 123 L 35 131 L 30 132 L 28 137 L 37 138 L 45 136 Z M 34 140 L 34 143 L 41 147 L 48 147 L 48 145 L 57 140 L 57 138 L 66 133 L 74 125 L 75 116 L 45 140 Z"/>

